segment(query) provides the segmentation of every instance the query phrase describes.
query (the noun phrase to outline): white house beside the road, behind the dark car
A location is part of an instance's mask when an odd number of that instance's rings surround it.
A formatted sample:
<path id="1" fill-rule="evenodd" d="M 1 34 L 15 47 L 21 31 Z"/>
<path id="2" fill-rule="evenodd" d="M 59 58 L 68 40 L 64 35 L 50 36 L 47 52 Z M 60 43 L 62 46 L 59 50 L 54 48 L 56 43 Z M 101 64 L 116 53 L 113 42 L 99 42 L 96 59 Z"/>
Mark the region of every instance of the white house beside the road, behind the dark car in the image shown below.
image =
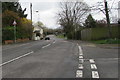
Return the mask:
<path id="1" fill-rule="evenodd" d="M 35 26 L 33 28 L 33 40 L 43 39 L 43 29 L 40 26 Z"/>

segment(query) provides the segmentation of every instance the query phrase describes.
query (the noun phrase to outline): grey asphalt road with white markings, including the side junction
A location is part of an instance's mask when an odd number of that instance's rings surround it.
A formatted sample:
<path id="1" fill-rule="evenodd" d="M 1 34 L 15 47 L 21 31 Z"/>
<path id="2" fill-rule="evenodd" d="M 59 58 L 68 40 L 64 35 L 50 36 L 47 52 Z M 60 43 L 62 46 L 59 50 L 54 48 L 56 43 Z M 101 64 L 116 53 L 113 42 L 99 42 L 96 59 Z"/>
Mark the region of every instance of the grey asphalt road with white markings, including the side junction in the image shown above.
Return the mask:
<path id="1" fill-rule="evenodd" d="M 3 46 L 3 78 L 118 78 L 118 49 L 50 38 Z"/>

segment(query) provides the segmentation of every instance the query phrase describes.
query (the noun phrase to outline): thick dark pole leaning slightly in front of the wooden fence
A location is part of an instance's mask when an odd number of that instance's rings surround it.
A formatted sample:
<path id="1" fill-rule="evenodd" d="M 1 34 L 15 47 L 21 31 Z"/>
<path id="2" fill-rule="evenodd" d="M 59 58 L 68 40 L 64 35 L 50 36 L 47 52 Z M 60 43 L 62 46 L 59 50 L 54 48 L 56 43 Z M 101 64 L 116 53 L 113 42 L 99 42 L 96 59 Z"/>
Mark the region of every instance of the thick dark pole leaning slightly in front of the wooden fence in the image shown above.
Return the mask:
<path id="1" fill-rule="evenodd" d="M 110 19 L 109 19 L 107 1 L 104 0 L 104 3 L 105 3 L 105 13 L 106 13 L 106 20 L 107 20 L 107 27 L 108 27 L 108 35 L 109 35 L 109 38 L 112 38 L 112 33 L 111 33 L 111 29 L 110 29 Z"/>

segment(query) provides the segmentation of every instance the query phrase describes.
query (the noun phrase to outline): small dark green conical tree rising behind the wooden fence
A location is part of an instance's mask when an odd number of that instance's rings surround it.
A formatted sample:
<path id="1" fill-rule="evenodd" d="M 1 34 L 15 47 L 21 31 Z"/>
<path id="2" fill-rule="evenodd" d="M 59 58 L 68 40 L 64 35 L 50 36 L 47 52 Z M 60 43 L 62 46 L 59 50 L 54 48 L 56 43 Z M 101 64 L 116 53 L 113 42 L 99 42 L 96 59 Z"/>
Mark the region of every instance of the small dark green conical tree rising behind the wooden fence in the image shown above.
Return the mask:
<path id="1" fill-rule="evenodd" d="M 96 21 L 93 19 L 91 14 L 89 14 L 87 19 L 85 20 L 85 27 L 87 27 L 87 28 L 96 27 Z"/>

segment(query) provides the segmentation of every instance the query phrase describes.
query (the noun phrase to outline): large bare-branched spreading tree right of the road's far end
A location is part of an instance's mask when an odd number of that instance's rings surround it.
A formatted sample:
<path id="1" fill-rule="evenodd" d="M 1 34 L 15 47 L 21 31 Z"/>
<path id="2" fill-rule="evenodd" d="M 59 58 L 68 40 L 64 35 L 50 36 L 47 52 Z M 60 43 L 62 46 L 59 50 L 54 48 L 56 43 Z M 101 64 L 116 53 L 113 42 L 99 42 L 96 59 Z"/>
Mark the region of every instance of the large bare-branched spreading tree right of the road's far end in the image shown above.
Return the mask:
<path id="1" fill-rule="evenodd" d="M 82 19 L 88 14 L 88 5 L 84 2 L 62 2 L 61 11 L 58 14 L 59 23 L 63 26 L 68 38 L 73 38 L 77 31 L 77 25 L 81 24 Z M 77 24 L 77 25 L 76 25 Z"/>

